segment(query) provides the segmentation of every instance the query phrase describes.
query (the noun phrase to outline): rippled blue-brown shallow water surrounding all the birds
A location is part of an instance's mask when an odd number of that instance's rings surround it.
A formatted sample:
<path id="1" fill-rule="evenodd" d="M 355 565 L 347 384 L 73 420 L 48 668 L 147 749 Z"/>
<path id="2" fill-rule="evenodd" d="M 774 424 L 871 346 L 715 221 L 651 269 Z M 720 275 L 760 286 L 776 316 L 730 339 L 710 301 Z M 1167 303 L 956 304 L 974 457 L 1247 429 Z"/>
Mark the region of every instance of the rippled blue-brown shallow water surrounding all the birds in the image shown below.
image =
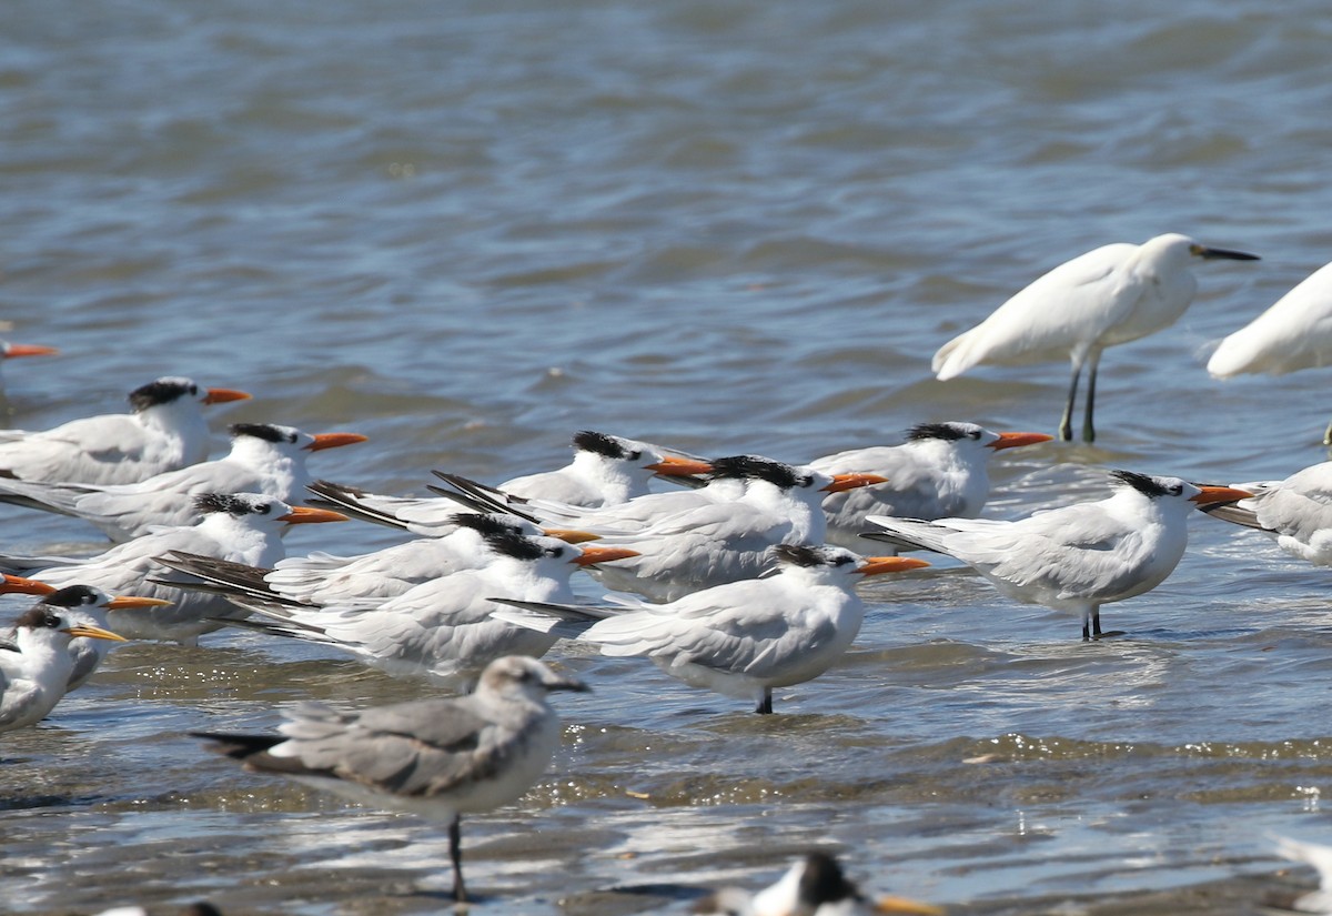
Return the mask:
<path id="1" fill-rule="evenodd" d="M 0 318 L 9 423 L 121 410 L 161 374 L 250 390 L 214 429 L 348 429 L 329 478 L 500 481 L 602 429 L 801 461 L 924 419 L 1051 430 L 1067 367 L 930 355 L 1039 273 L 1184 232 L 1212 262 L 1103 365 L 1100 441 L 1004 453 L 988 514 L 1103 467 L 1284 477 L 1325 458 L 1325 373 L 1209 379 L 1209 342 L 1329 258 L 1332 20 L 1309 0 L 216 3 L 9 0 Z M 1011 457 L 1010 457 L 1011 455 Z M 314 526 L 312 526 L 314 527 Z M 289 549 L 392 543 L 365 526 Z M 0 547 L 93 547 L 12 509 Z M 581 586 L 594 594 L 594 586 Z M 855 648 L 778 715 L 634 660 L 553 656 L 565 744 L 464 825 L 503 913 L 681 912 L 813 845 L 962 913 L 1229 913 L 1269 832 L 1332 840 L 1325 571 L 1199 517 L 1177 572 L 1106 610 L 1010 603 L 947 563 L 866 588 Z M 286 702 L 422 695 L 222 632 L 133 644 L 0 738 L 0 909 L 210 899 L 228 913 L 442 908 L 441 827 L 241 772 L 184 732 Z"/>

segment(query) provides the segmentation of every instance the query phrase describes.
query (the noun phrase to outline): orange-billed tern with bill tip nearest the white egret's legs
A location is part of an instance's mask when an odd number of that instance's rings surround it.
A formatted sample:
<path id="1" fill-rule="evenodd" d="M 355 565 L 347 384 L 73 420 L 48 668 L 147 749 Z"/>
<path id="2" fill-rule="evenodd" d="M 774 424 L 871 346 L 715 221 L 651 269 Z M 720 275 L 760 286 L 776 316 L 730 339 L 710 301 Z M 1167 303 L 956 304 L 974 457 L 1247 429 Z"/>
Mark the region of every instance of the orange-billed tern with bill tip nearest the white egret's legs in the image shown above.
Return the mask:
<path id="1" fill-rule="evenodd" d="M 874 471 L 882 486 L 831 493 L 823 498 L 827 539 L 858 553 L 871 545 L 860 537 L 871 513 L 903 518 L 975 518 L 990 498 L 990 457 L 1000 449 L 1048 442 L 1044 433 L 994 433 L 975 423 L 919 423 L 902 445 L 851 449 L 810 462 L 834 473 Z"/>

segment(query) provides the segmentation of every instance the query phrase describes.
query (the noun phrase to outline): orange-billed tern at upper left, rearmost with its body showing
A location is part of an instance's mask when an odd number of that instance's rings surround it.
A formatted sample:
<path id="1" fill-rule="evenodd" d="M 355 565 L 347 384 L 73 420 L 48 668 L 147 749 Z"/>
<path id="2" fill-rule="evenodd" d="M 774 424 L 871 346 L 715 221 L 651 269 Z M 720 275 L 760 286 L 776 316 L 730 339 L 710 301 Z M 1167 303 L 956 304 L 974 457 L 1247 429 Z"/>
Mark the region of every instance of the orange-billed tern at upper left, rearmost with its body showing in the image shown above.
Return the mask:
<path id="1" fill-rule="evenodd" d="M 129 393 L 133 413 L 75 419 L 0 437 L 0 477 L 67 483 L 133 483 L 208 457 L 200 407 L 250 397 L 164 377 Z"/>

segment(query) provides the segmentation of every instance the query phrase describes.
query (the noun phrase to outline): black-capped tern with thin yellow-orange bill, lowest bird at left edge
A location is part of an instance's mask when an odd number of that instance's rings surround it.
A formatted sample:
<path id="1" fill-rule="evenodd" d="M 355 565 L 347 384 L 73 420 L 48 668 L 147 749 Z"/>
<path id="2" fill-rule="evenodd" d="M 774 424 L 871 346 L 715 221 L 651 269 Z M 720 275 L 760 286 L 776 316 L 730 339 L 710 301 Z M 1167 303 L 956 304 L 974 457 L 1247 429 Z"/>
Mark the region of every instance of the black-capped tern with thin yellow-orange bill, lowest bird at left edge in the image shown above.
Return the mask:
<path id="1" fill-rule="evenodd" d="M 73 671 L 72 639 L 125 642 L 92 622 L 71 619 L 69 608 L 83 607 L 75 594 L 72 588 L 51 592 L 19 618 L 7 642 L 0 642 L 0 731 L 35 726 L 56 707 Z"/>

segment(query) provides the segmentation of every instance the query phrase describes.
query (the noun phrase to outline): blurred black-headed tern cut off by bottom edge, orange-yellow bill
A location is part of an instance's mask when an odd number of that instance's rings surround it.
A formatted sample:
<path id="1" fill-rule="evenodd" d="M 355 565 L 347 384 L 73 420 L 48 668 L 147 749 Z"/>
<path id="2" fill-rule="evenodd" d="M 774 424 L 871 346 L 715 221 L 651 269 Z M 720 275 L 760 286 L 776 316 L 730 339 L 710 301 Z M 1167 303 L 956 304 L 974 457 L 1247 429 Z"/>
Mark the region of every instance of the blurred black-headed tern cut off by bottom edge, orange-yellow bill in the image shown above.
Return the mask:
<path id="1" fill-rule="evenodd" d="M 775 883 L 750 895 L 722 888 L 694 907 L 702 916 L 868 916 L 918 913 L 943 916 L 939 907 L 904 897 L 872 900 L 852 884 L 827 852 L 811 852 Z"/>

